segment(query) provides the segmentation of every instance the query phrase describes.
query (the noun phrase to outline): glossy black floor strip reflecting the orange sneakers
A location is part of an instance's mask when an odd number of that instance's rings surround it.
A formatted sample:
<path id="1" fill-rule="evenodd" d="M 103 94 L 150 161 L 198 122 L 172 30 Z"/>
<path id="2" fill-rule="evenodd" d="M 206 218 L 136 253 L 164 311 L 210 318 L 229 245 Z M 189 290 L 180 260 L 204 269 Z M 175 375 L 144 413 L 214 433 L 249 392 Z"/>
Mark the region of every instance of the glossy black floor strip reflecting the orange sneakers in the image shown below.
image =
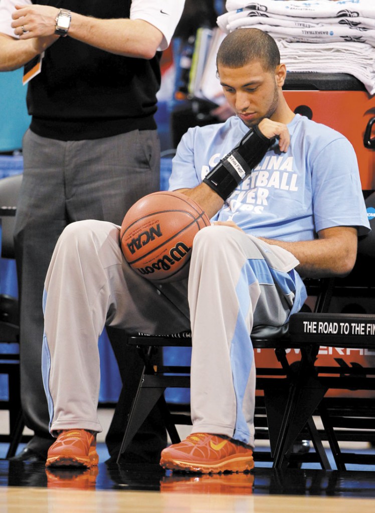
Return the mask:
<path id="1" fill-rule="evenodd" d="M 159 465 L 100 463 L 89 470 L 49 469 L 43 464 L 0 461 L 0 486 L 97 490 L 154 490 L 236 495 L 309 495 L 375 498 L 374 473 L 256 468 L 251 473 L 194 475 Z"/>

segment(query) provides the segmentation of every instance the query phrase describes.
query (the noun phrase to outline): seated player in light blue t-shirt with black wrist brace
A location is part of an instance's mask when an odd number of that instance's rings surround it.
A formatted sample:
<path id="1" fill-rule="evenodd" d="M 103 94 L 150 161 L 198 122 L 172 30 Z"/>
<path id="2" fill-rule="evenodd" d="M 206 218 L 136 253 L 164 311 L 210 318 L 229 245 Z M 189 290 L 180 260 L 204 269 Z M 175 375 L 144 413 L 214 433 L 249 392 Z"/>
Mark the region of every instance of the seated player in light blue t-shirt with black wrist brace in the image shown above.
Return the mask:
<path id="1" fill-rule="evenodd" d="M 301 277 L 348 273 L 358 234 L 369 230 L 352 146 L 288 107 L 273 39 L 236 30 L 217 65 L 236 115 L 189 129 L 170 179 L 212 223 L 195 236 L 188 280 L 156 286 L 136 274 L 110 223 L 73 223 L 56 245 L 44 301 L 43 375 L 57 437 L 47 466 L 97 463 L 97 340 L 107 324 L 192 329 L 192 432 L 163 450 L 162 466 L 252 468 L 252 327 L 281 326 L 301 308 Z"/>

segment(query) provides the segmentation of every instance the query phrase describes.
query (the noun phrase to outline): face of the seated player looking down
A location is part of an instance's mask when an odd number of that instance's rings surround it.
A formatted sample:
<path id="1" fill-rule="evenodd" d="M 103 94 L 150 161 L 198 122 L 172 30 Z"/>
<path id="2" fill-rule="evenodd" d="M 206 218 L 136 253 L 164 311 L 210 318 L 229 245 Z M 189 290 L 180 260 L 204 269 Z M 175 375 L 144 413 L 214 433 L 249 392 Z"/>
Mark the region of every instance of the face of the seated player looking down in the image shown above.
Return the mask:
<path id="1" fill-rule="evenodd" d="M 279 68 L 275 73 L 264 71 L 259 62 L 252 62 L 242 68 L 218 66 L 225 97 L 235 114 L 249 128 L 258 125 L 265 117 L 277 117 L 282 85 Z"/>

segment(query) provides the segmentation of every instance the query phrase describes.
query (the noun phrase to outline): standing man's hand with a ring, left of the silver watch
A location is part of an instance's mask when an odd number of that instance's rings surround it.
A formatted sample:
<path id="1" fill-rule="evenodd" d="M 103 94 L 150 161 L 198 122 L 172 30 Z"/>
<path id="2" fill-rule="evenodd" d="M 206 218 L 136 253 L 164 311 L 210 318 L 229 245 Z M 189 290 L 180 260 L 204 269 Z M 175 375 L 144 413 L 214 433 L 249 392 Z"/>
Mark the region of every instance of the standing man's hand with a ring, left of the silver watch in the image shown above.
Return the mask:
<path id="1" fill-rule="evenodd" d="M 59 10 L 48 5 L 16 5 L 12 14 L 14 34 L 20 39 L 52 36 Z"/>

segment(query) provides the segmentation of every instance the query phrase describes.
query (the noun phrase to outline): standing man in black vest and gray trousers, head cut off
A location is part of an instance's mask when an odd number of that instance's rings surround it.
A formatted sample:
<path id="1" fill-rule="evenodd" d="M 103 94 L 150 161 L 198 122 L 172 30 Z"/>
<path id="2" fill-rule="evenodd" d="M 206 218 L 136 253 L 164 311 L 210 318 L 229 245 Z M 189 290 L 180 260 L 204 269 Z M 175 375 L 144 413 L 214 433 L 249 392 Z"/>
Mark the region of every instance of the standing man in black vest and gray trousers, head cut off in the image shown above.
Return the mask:
<path id="1" fill-rule="evenodd" d="M 33 76 L 15 249 L 21 396 L 34 437 L 18 460 L 44 460 L 53 441 L 40 370 L 43 283 L 53 248 L 69 223 L 119 224 L 129 206 L 159 189 L 159 62 L 183 8 L 184 0 L 0 3 L 0 71 L 26 65 Z M 122 337 L 115 330 L 109 336 L 119 360 Z M 129 384 L 130 358 L 119 361 Z"/>

